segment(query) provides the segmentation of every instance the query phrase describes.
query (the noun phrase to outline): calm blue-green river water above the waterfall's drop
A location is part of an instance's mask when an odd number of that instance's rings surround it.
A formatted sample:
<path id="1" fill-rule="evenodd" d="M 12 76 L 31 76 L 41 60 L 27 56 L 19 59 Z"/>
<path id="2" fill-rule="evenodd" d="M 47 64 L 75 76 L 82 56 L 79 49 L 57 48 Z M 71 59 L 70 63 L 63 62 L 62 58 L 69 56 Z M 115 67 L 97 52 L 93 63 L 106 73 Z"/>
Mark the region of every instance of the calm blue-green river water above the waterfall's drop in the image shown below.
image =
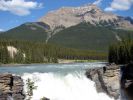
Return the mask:
<path id="1" fill-rule="evenodd" d="M 0 73 L 12 73 L 22 75 L 23 73 L 70 73 L 74 71 L 83 71 L 93 67 L 103 67 L 104 62 L 95 63 L 72 63 L 72 64 L 31 64 L 31 65 L 20 65 L 20 66 L 0 66 Z"/>

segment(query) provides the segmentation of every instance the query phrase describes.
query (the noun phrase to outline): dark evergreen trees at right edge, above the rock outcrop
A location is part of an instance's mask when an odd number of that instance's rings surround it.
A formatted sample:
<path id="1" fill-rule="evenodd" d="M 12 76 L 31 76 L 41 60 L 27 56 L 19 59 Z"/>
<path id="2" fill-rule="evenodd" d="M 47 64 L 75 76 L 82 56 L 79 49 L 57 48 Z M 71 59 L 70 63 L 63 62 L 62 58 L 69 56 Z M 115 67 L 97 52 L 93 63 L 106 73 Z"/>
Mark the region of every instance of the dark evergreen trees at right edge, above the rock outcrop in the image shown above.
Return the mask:
<path id="1" fill-rule="evenodd" d="M 110 45 L 108 60 L 110 63 L 116 64 L 133 62 L 133 40 L 129 37 Z"/>

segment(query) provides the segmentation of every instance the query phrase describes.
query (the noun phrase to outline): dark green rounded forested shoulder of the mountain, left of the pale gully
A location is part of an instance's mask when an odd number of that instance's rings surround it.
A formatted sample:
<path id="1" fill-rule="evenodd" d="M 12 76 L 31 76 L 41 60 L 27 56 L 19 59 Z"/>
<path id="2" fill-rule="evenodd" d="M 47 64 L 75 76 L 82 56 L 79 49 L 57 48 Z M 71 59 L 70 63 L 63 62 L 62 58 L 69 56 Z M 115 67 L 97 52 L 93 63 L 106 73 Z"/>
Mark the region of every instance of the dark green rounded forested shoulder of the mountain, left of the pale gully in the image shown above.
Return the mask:
<path id="1" fill-rule="evenodd" d="M 46 41 L 50 27 L 42 22 L 25 23 L 0 34 L 0 38 Z"/>

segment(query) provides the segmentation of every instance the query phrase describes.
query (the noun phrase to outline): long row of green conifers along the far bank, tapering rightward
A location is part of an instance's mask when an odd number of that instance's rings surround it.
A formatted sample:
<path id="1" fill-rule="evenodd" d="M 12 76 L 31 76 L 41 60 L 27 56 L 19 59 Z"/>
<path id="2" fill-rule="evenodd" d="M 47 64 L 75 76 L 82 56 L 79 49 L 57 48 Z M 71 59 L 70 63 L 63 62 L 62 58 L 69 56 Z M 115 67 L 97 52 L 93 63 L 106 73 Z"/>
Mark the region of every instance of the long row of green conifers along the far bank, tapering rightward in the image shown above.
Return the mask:
<path id="1" fill-rule="evenodd" d="M 15 47 L 17 53 L 10 56 L 8 46 Z M 0 39 L 0 63 L 57 63 L 58 59 L 72 60 L 105 60 L 103 52 L 78 50 L 60 47 L 42 42 Z"/>

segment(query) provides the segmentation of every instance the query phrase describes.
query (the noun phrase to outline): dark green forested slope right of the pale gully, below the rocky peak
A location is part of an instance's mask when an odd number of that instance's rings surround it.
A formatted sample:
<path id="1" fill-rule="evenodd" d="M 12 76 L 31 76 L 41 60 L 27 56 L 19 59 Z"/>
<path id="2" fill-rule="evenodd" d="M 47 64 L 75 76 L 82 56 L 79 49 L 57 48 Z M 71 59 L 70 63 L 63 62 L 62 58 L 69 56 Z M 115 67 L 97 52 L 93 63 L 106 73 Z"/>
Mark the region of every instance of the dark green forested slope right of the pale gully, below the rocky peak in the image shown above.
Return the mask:
<path id="1" fill-rule="evenodd" d="M 53 35 L 48 43 L 77 49 L 107 51 L 111 43 L 120 41 L 129 34 L 133 38 L 132 33 L 133 31 L 94 26 L 84 22 Z"/>

